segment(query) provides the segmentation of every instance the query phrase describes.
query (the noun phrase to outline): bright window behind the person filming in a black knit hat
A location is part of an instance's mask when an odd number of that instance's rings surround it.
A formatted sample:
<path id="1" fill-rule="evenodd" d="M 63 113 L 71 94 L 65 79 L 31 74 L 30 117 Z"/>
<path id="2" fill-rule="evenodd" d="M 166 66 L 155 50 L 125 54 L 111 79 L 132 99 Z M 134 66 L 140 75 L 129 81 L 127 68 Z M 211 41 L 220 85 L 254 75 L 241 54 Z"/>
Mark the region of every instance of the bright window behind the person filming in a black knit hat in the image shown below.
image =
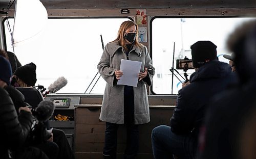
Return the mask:
<path id="1" fill-rule="evenodd" d="M 177 59 L 185 57 L 191 59 L 190 46 L 197 41 L 209 40 L 215 43 L 219 60 L 228 63 L 228 60 L 223 58 L 224 54 L 230 55 L 226 49 L 226 39 L 236 26 L 250 19 L 252 18 L 153 18 L 151 21 L 151 53 L 153 65 L 156 68 L 156 75 L 153 77 L 153 92 L 155 94 L 178 94 L 182 83 L 176 76 L 183 82 L 184 80 L 178 72 L 184 77 L 184 71 L 177 70 L 177 72 L 174 71 L 175 75 L 172 75 L 170 69 L 173 67 L 173 55 L 176 69 Z M 193 72 L 195 72 L 193 69 L 186 71 L 188 79 Z"/>

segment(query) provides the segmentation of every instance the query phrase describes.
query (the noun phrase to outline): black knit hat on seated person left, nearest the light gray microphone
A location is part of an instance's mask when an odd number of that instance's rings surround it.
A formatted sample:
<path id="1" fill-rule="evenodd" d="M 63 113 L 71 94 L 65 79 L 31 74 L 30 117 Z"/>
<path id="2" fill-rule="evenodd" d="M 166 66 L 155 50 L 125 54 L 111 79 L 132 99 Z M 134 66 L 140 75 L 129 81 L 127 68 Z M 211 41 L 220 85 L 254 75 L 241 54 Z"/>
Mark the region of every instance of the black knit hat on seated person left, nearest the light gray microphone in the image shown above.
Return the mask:
<path id="1" fill-rule="evenodd" d="M 35 73 L 36 65 L 34 63 L 30 63 L 24 66 L 20 66 L 13 73 L 20 80 L 26 83 L 28 86 L 35 86 L 36 83 L 36 73 Z"/>

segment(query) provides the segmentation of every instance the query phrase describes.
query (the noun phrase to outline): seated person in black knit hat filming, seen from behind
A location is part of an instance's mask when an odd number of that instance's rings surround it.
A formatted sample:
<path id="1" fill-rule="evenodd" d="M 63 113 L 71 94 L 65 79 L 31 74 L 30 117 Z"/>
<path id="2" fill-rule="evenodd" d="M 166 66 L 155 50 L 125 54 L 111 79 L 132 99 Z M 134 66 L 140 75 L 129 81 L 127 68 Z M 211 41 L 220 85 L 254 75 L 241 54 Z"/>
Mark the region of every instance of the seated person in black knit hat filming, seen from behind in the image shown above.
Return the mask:
<path id="1" fill-rule="evenodd" d="M 231 68 L 217 60 L 217 46 L 210 41 L 191 45 L 193 66 L 189 85 L 179 91 L 170 126 L 160 125 L 152 130 L 155 159 L 195 158 L 199 127 L 211 97 L 223 91 L 233 81 Z M 184 146 L 185 145 L 185 146 Z"/>

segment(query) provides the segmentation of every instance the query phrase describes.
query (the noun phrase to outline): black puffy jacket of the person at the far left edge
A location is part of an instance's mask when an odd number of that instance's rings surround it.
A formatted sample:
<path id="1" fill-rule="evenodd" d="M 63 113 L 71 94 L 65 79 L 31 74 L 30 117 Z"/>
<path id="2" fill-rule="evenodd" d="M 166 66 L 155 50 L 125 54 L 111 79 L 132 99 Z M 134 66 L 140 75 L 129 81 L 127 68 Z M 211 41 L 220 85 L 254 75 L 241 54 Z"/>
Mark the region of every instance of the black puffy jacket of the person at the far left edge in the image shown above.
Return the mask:
<path id="1" fill-rule="evenodd" d="M 29 112 L 21 111 L 19 116 L 8 92 L 0 88 L 0 158 L 5 158 L 8 149 L 22 147 L 30 132 L 33 119 Z"/>

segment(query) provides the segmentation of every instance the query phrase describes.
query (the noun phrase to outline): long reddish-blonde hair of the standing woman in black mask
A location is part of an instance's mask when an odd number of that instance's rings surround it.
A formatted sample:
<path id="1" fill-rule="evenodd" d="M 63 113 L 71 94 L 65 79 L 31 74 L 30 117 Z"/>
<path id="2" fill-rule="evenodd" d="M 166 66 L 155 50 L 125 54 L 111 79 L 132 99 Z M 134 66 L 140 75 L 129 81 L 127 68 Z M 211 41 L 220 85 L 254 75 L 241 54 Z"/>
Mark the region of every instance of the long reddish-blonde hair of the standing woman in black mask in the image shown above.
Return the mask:
<path id="1" fill-rule="evenodd" d="M 139 33 L 139 27 L 138 27 L 138 24 L 136 24 L 135 22 L 131 21 L 131 20 L 127 20 L 127 21 L 124 21 L 121 23 L 120 25 L 120 28 L 118 30 L 118 33 L 117 33 L 117 38 L 112 41 L 112 42 L 118 42 L 120 46 L 122 46 L 124 48 L 125 51 L 127 51 L 127 47 L 125 45 L 125 39 L 124 39 L 124 32 L 131 28 L 131 26 L 135 25 L 136 26 L 136 39 L 134 41 L 134 45 L 142 48 L 142 45 L 139 43 L 139 40 L 138 40 L 138 33 Z"/>

